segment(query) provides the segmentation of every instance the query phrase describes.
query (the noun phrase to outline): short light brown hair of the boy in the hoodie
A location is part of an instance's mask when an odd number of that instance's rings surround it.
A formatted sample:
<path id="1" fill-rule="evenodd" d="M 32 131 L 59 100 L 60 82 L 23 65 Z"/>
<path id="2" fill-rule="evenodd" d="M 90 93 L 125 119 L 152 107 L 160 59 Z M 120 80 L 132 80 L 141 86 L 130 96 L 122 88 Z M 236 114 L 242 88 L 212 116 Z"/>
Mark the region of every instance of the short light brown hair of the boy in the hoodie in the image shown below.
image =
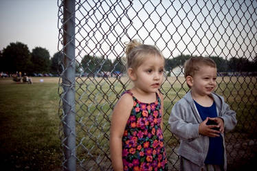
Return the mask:
<path id="1" fill-rule="evenodd" d="M 203 66 L 207 65 L 210 67 L 216 68 L 216 63 L 214 60 L 208 57 L 198 56 L 198 57 L 191 57 L 184 63 L 184 76 L 194 76 L 194 74 L 199 71 L 199 69 Z"/>

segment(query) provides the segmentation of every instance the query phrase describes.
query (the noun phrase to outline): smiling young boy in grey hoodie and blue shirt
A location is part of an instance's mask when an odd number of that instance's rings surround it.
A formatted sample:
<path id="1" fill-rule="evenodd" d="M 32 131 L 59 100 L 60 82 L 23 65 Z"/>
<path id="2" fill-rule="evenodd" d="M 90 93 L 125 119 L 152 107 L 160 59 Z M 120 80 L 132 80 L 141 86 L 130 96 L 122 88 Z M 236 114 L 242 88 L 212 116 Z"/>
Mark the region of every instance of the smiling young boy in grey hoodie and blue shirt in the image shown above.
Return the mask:
<path id="1" fill-rule="evenodd" d="M 224 131 L 236 126 L 236 113 L 213 93 L 216 63 L 192 57 L 184 64 L 190 91 L 172 108 L 168 123 L 179 139 L 181 170 L 227 170 Z"/>

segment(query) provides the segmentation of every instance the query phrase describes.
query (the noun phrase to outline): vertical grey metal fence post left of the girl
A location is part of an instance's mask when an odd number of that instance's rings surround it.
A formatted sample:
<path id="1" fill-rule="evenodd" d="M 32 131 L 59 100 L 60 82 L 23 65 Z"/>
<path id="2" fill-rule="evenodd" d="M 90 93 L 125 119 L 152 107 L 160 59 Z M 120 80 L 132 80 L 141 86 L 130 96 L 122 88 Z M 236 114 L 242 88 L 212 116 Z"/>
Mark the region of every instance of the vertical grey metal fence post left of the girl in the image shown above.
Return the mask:
<path id="1" fill-rule="evenodd" d="M 76 170 L 75 113 L 75 1 L 65 0 L 63 6 L 64 71 L 62 74 L 65 144 L 64 170 Z"/>

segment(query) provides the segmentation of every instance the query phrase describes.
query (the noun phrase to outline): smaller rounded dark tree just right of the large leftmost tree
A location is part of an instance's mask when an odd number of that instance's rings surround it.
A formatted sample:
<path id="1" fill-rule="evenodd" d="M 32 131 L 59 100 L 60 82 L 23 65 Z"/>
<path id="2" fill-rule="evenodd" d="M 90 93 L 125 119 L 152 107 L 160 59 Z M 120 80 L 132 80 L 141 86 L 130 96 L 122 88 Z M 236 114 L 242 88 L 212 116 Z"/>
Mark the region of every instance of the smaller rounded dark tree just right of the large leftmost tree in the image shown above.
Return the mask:
<path id="1" fill-rule="evenodd" d="M 50 67 L 50 55 L 47 49 L 35 47 L 32 49 L 31 61 L 34 65 L 34 71 L 37 73 L 47 73 Z"/>

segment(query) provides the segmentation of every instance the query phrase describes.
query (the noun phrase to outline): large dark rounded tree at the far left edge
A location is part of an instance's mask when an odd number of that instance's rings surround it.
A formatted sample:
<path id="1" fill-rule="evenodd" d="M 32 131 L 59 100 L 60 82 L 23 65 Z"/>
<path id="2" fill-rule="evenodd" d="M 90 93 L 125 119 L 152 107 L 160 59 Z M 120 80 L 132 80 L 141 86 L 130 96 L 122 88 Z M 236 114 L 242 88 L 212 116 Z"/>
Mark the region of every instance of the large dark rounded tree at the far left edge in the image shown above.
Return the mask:
<path id="1" fill-rule="evenodd" d="M 23 43 L 10 43 L 10 45 L 3 49 L 1 63 L 1 70 L 10 73 L 30 71 L 30 50 Z"/>

